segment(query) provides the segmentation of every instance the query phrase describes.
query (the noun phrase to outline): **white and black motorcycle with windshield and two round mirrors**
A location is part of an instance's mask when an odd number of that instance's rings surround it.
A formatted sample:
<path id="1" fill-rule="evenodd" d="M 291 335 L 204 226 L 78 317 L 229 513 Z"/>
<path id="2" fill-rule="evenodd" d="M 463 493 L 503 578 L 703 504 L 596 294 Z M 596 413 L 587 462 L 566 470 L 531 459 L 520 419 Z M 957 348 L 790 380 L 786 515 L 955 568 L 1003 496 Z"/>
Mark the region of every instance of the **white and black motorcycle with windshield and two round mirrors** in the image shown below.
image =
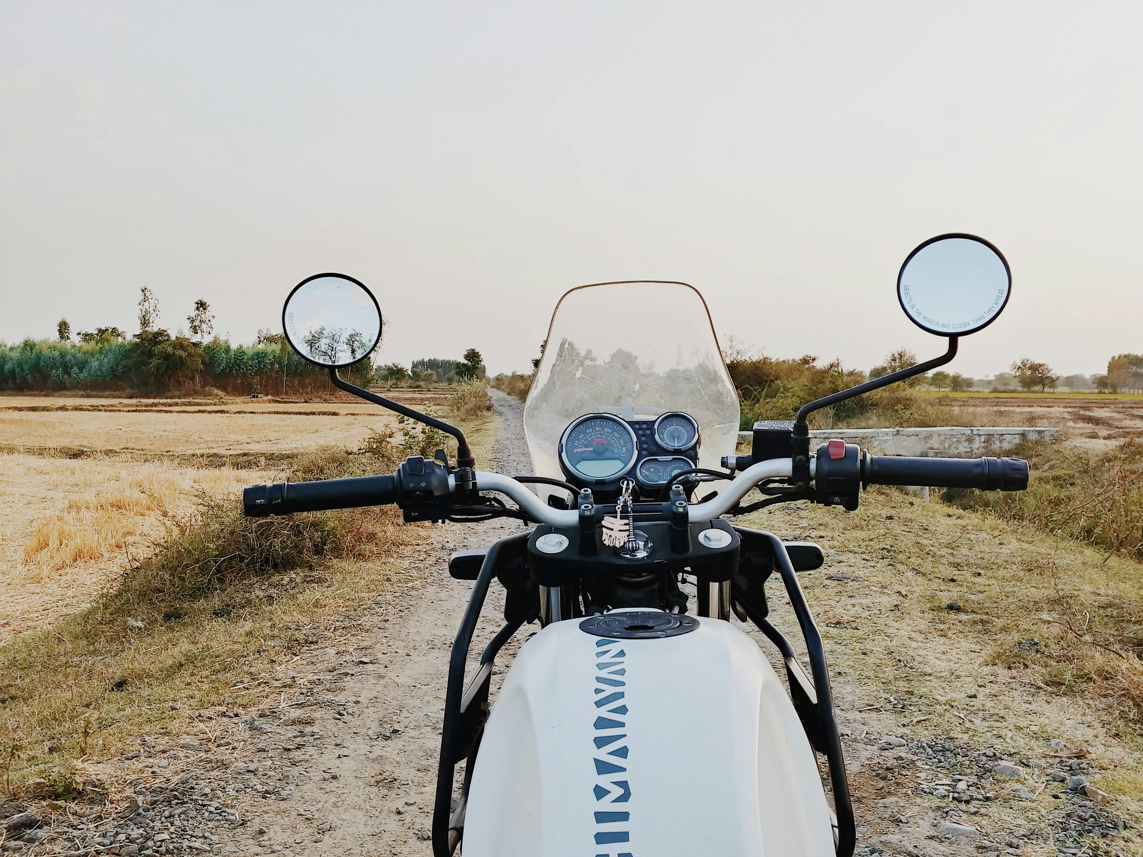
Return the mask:
<path id="1" fill-rule="evenodd" d="M 902 265 L 897 295 L 914 323 L 948 337 L 945 353 L 809 402 L 791 422 L 756 423 L 751 451 L 738 455 L 738 399 L 698 291 L 681 282 L 573 289 L 555 307 L 523 408 L 535 474 L 509 476 L 478 471 L 455 426 L 338 375 L 381 341 L 381 309 L 362 283 L 318 274 L 295 287 L 282 326 L 298 354 L 328 368 L 338 389 L 450 434 L 457 452 L 413 456 L 387 475 L 254 486 L 243 492 L 248 515 L 395 503 L 410 522 L 534 524 L 449 560 L 472 595 L 449 662 L 433 854 L 447 857 L 463 840 L 466 857 L 850 857 L 829 668 L 798 583 L 823 564 L 822 550 L 728 519 L 792 500 L 852 511 L 870 484 L 1026 488 L 1021 459 L 879 456 L 841 440 L 810 450 L 807 423 L 944 366 L 1010 290 L 1008 263 L 988 241 L 926 241 Z M 752 491 L 758 499 L 744 503 Z M 808 670 L 768 618 L 775 572 Z M 494 578 L 505 590 L 504 625 L 465 680 Z M 694 604 L 680 583 L 695 586 Z M 789 695 L 732 614 L 777 648 Z M 497 654 L 534 622 L 539 631 L 493 703 Z"/>

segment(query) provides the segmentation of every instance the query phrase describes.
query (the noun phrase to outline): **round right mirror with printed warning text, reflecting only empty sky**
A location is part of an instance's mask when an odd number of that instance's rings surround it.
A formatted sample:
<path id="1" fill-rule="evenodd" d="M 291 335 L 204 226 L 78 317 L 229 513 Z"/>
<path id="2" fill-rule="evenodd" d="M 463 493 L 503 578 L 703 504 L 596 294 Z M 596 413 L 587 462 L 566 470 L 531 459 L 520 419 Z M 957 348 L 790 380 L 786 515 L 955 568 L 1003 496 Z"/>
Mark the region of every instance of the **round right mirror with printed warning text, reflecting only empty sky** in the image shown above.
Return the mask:
<path id="1" fill-rule="evenodd" d="M 922 330 L 967 336 L 985 328 L 1012 294 L 1012 271 L 983 238 L 953 233 L 922 243 L 897 277 L 897 298 Z"/>

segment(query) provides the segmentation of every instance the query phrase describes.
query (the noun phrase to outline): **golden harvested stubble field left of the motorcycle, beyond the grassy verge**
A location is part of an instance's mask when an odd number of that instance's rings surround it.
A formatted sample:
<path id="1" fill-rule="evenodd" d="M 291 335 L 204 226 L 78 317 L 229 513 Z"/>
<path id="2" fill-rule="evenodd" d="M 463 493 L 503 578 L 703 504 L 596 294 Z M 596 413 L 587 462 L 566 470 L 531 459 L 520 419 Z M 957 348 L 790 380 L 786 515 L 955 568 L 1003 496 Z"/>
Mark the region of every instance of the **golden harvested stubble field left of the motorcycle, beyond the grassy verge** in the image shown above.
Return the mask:
<path id="1" fill-rule="evenodd" d="M 418 407 L 450 395 L 391 392 Z M 357 399 L 0 397 L 0 640 L 89 604 L 201 496 L 395 428 Z"/>

